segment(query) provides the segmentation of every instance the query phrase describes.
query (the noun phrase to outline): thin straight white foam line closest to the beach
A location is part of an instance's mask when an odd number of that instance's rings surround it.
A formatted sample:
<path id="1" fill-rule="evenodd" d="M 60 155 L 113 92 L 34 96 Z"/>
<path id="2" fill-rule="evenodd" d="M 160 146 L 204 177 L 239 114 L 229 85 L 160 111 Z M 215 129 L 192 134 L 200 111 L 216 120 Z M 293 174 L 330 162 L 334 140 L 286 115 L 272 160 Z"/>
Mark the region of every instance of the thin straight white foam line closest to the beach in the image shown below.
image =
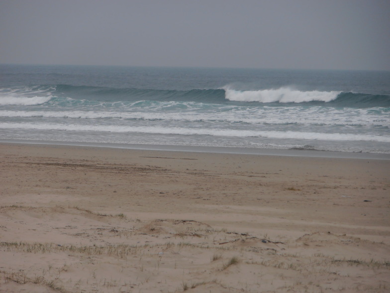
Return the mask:
<path id="1" fill-rule="evenodd" d="M 259 137 L 271 139 L 300 139 L 323 141 L 367 141 L 390 143 L 389 136 L 358 135 L 342 133 L 315 133 L 315 132 L 279 132 L 279 131 L 245 131 L 245 130 L 221 130 L 180 127 L 132 127 L 132 126 L 102 126 L 102 125 L 75 125 L 75 124 L 24 124 L 24 123 L 0 123 L 0 129 L 36 129 L 36 130 L 61 130 L 61 131 L 88 131 L 88 132 L 112 132 L 112 133 L 146 133 L 167 135 L 209 135 L 219 137 Z"/>

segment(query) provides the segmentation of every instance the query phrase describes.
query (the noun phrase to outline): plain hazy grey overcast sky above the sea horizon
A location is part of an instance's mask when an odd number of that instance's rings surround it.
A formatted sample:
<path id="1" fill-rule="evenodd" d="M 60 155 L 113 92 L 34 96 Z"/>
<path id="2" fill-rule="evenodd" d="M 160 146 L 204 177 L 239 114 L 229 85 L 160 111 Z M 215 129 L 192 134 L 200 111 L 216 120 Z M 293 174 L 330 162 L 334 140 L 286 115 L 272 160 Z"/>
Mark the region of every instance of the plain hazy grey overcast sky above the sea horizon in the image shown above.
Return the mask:
<path id="1" fill-rule="evenodd" d="M 390 70 L 390 0 L 0 0 L 0 63 Z"/>

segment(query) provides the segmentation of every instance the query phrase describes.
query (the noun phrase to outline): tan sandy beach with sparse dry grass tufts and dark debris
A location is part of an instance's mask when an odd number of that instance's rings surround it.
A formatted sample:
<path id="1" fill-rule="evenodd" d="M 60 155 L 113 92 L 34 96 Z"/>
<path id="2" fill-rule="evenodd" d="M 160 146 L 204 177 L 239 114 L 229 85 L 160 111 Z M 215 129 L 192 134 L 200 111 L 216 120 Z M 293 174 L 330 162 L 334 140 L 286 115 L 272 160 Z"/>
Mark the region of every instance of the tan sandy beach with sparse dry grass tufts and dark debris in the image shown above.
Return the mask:
<path id="1" fill-rule="evenodd" d="M 390 291 L 390 160 L 0 150 L 0 292 Z"/>

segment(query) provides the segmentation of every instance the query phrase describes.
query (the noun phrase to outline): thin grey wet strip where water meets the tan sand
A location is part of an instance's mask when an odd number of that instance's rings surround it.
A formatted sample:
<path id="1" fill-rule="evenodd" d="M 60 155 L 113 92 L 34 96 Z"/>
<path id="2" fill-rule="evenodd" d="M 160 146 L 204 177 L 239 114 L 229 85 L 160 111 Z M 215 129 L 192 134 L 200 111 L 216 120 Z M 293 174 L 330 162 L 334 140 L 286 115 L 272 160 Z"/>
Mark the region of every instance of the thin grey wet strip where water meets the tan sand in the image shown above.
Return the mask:
<path id="1" fill-rule="evenodd" d="M 300 157 L 328 157 L 328 158 L 351 158 L 351 159 L 379 159 L 390 160 L 389 153 L 373 152 L 346 152 L 318 149 L 278 149 L 278 148 L 254 148 L 254 147 L 223 147 L 223 146 L 175 146 L 175 145 L 137 145 L 137 144 L 114 144 L 114 143 L 78 143 L 78 142 L 54 142 L 54 141 L 30 141 L 30 140 L 4 140 L 0 144 L 16 145 L 48 145 L 48 146 L 86 146 L 101 148 L 120 149 L 143 149 L 156 151 L 184 151 L 184 152 L 208 152 L 208 153 L 231 153 L 231 154 L 254 154 L 275 156 L 300 156 Z"/>

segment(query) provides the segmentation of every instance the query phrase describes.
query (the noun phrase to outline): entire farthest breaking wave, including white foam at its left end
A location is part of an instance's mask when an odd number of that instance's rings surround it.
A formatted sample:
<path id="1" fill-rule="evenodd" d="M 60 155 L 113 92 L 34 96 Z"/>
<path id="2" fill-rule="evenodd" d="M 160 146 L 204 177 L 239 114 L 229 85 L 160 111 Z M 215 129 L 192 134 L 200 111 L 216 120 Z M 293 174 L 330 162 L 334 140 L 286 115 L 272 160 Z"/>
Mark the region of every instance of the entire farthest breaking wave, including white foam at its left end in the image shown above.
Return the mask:
<path id="1" fill-rule="evenodd" d="M 23 87 L 12 93 L 0 90 L 0 105 L 40 105 L 53 97 L 90 102 L 181 101 L 208 104 L 304 104 L 354 108 L 390 107 L 389 95 L 345 93 L 340 91 L 300 91 L 288 87 L 263 90 L 221 89 L 156 90 L 71 85 L 38 85 L 30 92 Z M 38 89 L 38 90 L 37 90 Z M 39 93 L 42 96 L 39 96 Z"/>

